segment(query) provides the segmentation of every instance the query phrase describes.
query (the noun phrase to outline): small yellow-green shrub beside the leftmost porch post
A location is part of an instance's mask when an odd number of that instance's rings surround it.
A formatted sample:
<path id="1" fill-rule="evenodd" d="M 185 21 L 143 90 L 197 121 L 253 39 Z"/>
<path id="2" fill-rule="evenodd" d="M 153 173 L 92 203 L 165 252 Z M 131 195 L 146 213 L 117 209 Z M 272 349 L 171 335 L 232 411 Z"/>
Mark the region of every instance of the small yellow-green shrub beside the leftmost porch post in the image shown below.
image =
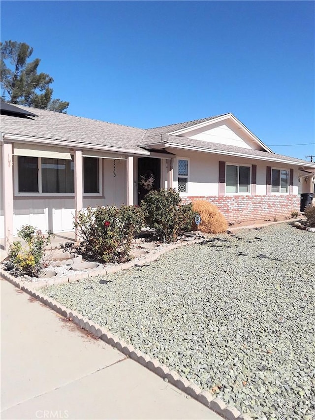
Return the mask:
<path id="1" fill-rule="evenodd" d="M 20 241 L 14 241 L 8 251 L 9 261 L 16 274 L 38 277 L 44 265 L 44 249 L 50 243 L 51 232 L 45 238 L 41 230 L 26 225 L 18 231 L 18 237 L 25 240 L 26 247 L 23 248 Z"/>

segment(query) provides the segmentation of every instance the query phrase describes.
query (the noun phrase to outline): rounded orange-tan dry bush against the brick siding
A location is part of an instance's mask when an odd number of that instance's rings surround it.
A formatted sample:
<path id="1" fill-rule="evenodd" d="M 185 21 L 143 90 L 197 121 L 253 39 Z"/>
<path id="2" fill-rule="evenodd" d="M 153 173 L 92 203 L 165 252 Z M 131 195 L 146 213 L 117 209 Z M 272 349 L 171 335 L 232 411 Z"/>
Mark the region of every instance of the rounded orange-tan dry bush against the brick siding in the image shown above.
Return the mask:
<path id="1" fill-rule="evenodd" d="M 195 200 L 192 202 L 192 210 L 201 217 L 199 229 L 203 233 L 224 233 L 226 231 L 226 219 L 214 204 L 206 200 Z"/>

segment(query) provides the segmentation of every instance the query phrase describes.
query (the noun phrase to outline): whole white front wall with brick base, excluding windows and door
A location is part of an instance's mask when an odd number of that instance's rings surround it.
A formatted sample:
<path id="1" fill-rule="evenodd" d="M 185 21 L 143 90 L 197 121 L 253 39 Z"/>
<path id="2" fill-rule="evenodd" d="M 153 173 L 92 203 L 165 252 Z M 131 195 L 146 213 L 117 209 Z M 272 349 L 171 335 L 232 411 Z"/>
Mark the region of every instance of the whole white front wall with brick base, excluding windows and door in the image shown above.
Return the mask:
<path id="1" fill-rule="evenodd" d="M 277 216 L 289 216 L 292 210 L 298 210 L 300 196 L 298 195 L 298 171 L 297 167 L 287 164 L 271 164 L 266 161 L 246 158 L 234 158 L 224 155 L 212 155 L 210 153 L 191 152 L 184 150 L 170 150 L 176 153 L 174 162 L 174 188 L 177 188 L 177 159 L 189 160 L 188 192 L 181 194 L 184 202 L 193 199 L 205 198 L 214 202 L 221 209 L 229 221 L 239 222 L 254 220 L 257 218 L 273 218 Z M 248 194 L 225 194 L 219 196 L 219 161 L 227 164 L 255 164 L 256 193 Z M 84 195 L 83 208 L 98 205 L 126 204 L 126 160 L 114 161 L 113 159 L 100 160 L 102 167 L 101 194 Z M 2 166 L 2 162 L 1 162 Z M 280 169 L 294 169 L 292 194 L 270 194 L 266 191 L 266 167 Z M 4 235 L 3 229 L 3 197 L 2 197 L 2 173 L 0 173 L 0 237 Z M 134 158 L 134 202 L 137 202 L 137 159 Z M 14 178 L 14 174 L 13 174 Z M 13 179 L 14 184 L 17 180 Z M 161 187 L 167 188 L 167 165 L 161 160 Z M 30 224 L 42 231 L 54 232 L 70 231 L 73 229 L 74 194 L 67 196 L 15 196 L 13 201 L 13 227 L 14 235 L 23 225 Z"/>

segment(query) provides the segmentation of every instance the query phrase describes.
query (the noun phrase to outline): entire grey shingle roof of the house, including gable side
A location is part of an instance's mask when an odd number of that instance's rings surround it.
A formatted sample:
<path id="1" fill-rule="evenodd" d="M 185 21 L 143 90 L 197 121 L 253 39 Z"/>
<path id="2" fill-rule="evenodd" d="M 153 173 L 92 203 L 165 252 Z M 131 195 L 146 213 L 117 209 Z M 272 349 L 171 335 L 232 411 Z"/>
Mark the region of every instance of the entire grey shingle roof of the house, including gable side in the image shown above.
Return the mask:
<path id="1" fill-rule="evenodd" d="M 111 146 L 115 148 L 128 148 L 131 150 L 143 150 L 145 145 L 153 143 L 163 143 L 167 147 L 167 142 L 191 147 L 198 147 L 208 150 L 222 152 L 242 153 L 243 155 L 278 158 L 290 162 L 301 163 L 310 167 L 315 164 L 300 159 L 289 158 L 283 155 L 277 155 L 259 150 L 245 149 L 242 147 L 230 146 L 219 143 L 208 143 L 200 140 L 192 140 L 186 137 L 169 135 L 168 133 L 194 126 L 206 121 L 221 117 L 221 114 L 215 117 L 203 118 L 200 120 L 187 121 L 185 123 L 172 124 L 169 126 L 156 127 L 152 129 L 138 129 L 135 127 L 122 126 L 119 124 L 107 123 L 104 121 L 92 120 L 89 118 L 75 117 L 68 114 L 62 114 L 53 111 L 42 110 L 19 105 L 26 111 L 33 111 L 38 117 L 14 117 L 10 115 L 1 115 L 1 132 L 6 134 L 25 135 L 31 137 L 40 137 L 50 140 L 62 140 L 65 142 L 77 142 L 97 146 Z"/>

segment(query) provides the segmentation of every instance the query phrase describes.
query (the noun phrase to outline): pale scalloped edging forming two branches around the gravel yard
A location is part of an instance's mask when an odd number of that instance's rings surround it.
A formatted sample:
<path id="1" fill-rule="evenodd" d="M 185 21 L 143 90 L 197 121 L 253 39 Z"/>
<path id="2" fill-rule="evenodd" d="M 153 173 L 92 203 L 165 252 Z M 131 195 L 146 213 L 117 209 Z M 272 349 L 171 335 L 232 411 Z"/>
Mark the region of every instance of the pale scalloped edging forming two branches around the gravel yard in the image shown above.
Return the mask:
<path id="1" fill-rule="evenodd" d="M 60 314 L 62 317 L 69 319 L 73 323 L 77 324 L 81 328 L 88 331 L 91 335 L 100 338 L 105 343 L 109 344 L 112 347 L 115 347 L 117 350 L 122 352 L 127 357 L 130 357 L 132 360 L 135 360 L 137 363 L 146 367 L 147 369 L 154 372 L 156 375 L 161 377 L 164 381 L 169 382 L 174 387 L 179 388 L 181 391 L 185 392 L 190 397 L 199 401 L 201 404 L 205 405 L 212 411 L 218 413 L 224 419 L 227 420 L 251 420 L 252 418 L 246 414 L 240 413 L 235 407 L 227 406 L 223 400 L 219 397 L 215 397 L 212 393 L 208 391 L 203 391 L 201 388 L 196 386 L 193 383 L 190 383 L 186 378 L 181 377 L 177 372 L 170 371 L 169 368 L 165 365 L 160 364 L 157 359 L 151 359 L 148 355 L 142 353 L 139 350 L 133 348 L 133 346 L 126 344 L 123 340 L 111 334 L 104 327 L 93 323 L 93 321 L 83 317 L 81 314 L 76 311 L 71 311 L 65 306 L 61 305 L 59 302 L 51 299 L 50 297 L 43 294 L 37 289 L 42 287 L 47 287 L 51 285 L 57 285 L 62 283 L 68 283 L 77 281 L 87 277 L 95 277 L 98 275 L 106 275 L 109 273 L 115 273 L 122 271 L 128 268 L 131 268 L 135 264 L 143 265 L 148 264 L 152 261 L 155 261 L 162 254 L 175 249 L 180 248 L 186 245 L 193 245 L 196 243 L 203 242 L 204 239 L 190 240 L 185 242 L 178 242 L 165 247 L 164 249 L 158 251 L 154 255 L 148 255 L 144 258 L 140 258 L 137 261 L 129 261 L 123 264 L 109 266 L 106 269 L 98 271 L 90 271 L 78 275 L 73 275 L 71 277 L 59 277 L 54 279 L 40 280 L 38 282 L 23 282 L 19 281 L 18 278 L 11 276 L 7 271 L 0 269 L 0 276 L 5 280 L 12 283 L 14 286 L 18 287 L 22 291 L 30 294 L 32 297 L 39 300 L 41 303 L 45 304 L 49 308 L 53 309 L 55 312 Z"/>

